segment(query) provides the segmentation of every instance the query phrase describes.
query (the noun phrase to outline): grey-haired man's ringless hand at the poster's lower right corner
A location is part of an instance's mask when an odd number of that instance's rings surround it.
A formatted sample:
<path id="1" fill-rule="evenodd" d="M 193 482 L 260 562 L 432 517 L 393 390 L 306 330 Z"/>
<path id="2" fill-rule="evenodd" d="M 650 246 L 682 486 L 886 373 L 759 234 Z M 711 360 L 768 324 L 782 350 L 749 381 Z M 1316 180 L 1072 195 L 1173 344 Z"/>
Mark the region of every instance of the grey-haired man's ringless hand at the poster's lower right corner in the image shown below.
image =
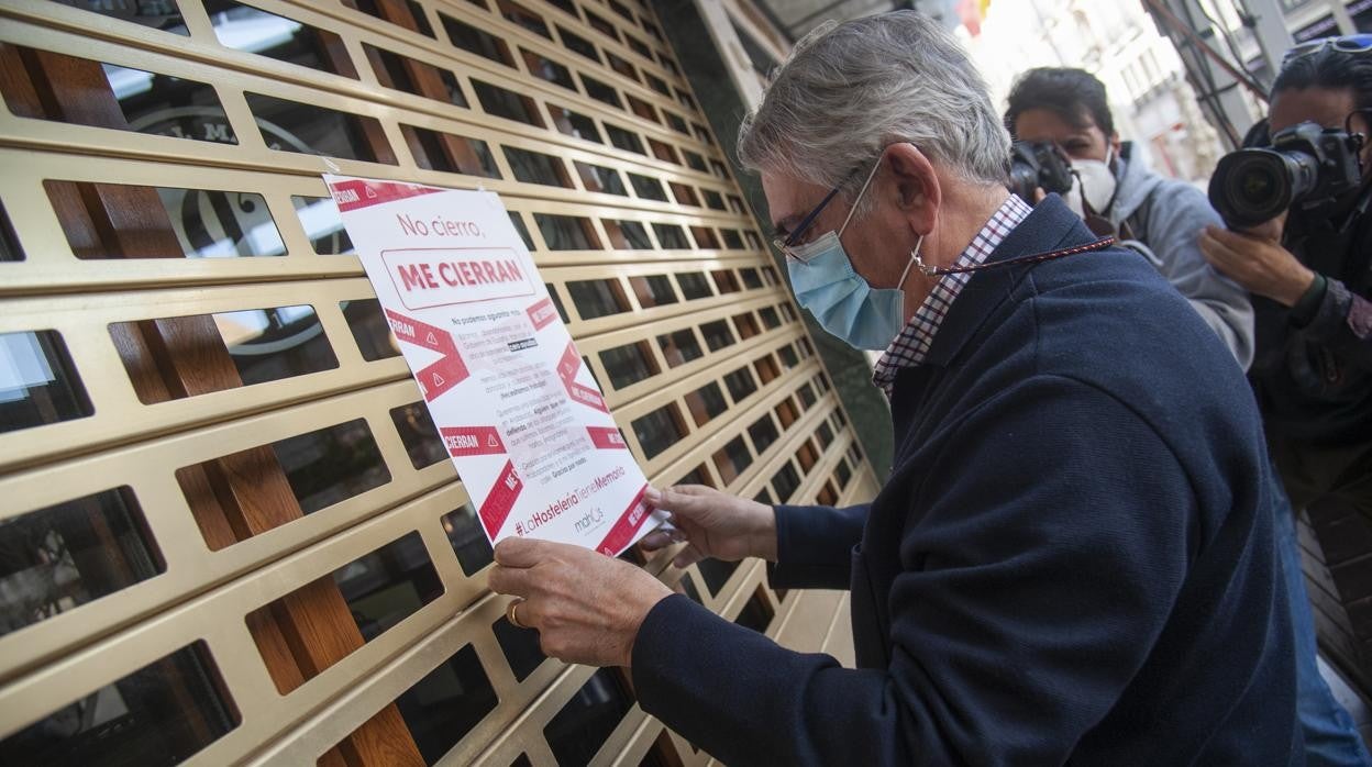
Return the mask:
<path id="1" fill-rule="evenodd" d="M 771 506 L 737 498 L 702 484 L 682 484 L 657 491 L 648 490 L 646 501 L 672 513 L 674 532 L 653 531 L 641 546 L 653 552 L 687 541 L 672 564 L 690 567 L 713 557 L 738 561 L 761 557 L 777 561 L 777 513 Z"/>

